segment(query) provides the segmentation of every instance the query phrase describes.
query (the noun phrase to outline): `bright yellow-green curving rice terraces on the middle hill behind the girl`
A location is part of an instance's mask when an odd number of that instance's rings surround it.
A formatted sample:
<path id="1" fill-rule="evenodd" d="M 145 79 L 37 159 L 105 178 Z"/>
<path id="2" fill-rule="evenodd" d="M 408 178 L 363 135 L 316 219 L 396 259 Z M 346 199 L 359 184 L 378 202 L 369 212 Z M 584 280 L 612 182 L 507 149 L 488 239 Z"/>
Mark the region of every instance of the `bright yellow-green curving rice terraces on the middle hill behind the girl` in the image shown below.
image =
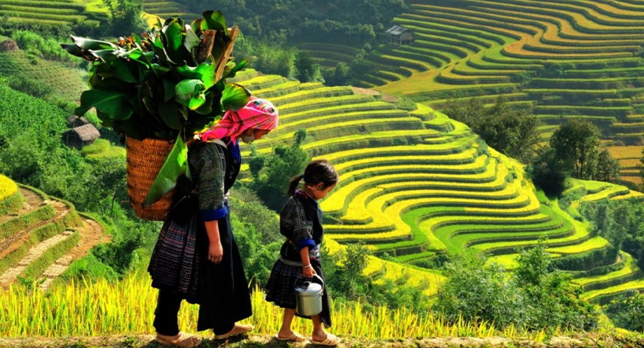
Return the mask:
<path id="1" fill-rule="evenodd" d="M 335 242 L 364 242 L 380 256 L 372 258 L 368 273 L 407 269 L 416 284 L 435 293 L 441 275 L 423 266 L 440 254 L 473 249 L 513 268 L 518 250 L 545 236 L 557 266 L 573 272 L 588 299 L 644 289 L 634 259 L 606 256 L 608 241 L 574 218 L 580 201 L 643 194 L 573 180 L 564 196 L 579 198 L 563 210 L 556 199 L 536 191 L 522 164 L 429 106 L 399 108 L 368 89 L 300 83 L 252 70 L 236 80 L 280 110 L 279 129 L 256 145 L 258 152 L 288 143 L 305 128 L 302 147 L 335 164 L 340 182 L 321 204 L 325 235 L 332 249 L 339 248 Z M 592 263 L 580 268 L 569 262 L 573 257 Z"/>

